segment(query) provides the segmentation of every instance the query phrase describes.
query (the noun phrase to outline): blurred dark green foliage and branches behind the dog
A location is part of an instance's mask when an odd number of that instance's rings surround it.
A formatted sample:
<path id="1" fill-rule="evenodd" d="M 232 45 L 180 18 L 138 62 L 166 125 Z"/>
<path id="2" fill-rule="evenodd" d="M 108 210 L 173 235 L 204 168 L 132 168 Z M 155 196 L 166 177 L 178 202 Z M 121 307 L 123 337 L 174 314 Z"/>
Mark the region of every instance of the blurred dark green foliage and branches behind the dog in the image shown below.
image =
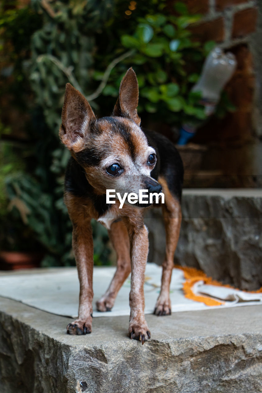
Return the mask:
<path id="1" fill-rule="evenodd" d="M 32 243 L 34 239 L 46 251 L 45 266 L 74 264 L 72 228 L 63 203 L 69 152 L 58 139 L 65 84 L 70 81 L 89 98 L 98 116 L 109 115 L 120 81 L 133 66 L 142 123 L 150 117 L 179 127 L 188 119 L 205 119 L 199 95 L 190 90 L 214 42 L 192 40 L 188 26 L 200 16 L 189 15 L 183 2 L 173 9 L 163 0 L 17 4 L 3 1 L 0 6 L 1 73 L 8 81 L 1 85 L 1 96 L 11 94 L 14 105 L 30 114 L 25 127 L 30 154 L 19 168 L 5 164 L 0 172 L 7 195 L 5 200 L 0 194 L 2 206 L 12 208 L 1 214 L 9 217 L 6 226 L 20 217 L 18 224 L 31 234 Z M 13 162 L 11 154 L 9 159 Z M 109 263 L 107 231 L 92 225 L 94 262 Z M 21 233 L 15 224 L 14 231 Z"/>

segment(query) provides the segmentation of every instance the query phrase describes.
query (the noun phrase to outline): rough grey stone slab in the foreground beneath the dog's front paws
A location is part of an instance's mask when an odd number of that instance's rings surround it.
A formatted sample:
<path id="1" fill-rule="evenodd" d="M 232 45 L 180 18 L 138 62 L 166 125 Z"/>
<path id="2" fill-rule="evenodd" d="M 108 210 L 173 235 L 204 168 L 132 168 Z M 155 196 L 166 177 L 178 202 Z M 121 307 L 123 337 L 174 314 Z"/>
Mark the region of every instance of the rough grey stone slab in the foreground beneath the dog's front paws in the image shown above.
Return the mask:
<path id="1" fill-rule="evenodd" d="M 0 298 L 1 393 L 258 393 L 262 306 L 146 316 L 152 339 L 127 338 L 128 317 L 68 318 Z M 80 382 L 82 386 L 81 388 Z"/>

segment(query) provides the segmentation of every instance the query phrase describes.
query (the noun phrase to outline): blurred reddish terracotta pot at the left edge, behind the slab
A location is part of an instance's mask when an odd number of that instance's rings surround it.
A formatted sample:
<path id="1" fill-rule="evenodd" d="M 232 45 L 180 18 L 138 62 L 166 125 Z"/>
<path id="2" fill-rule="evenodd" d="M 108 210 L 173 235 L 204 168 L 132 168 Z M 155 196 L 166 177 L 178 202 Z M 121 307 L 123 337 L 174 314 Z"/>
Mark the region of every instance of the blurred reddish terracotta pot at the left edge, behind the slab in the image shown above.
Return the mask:
<path id="1" fill-rule="evenodd" d="M 0 270 L 38 268 L 43 256 L 38 252 L 0 251 Z"/>

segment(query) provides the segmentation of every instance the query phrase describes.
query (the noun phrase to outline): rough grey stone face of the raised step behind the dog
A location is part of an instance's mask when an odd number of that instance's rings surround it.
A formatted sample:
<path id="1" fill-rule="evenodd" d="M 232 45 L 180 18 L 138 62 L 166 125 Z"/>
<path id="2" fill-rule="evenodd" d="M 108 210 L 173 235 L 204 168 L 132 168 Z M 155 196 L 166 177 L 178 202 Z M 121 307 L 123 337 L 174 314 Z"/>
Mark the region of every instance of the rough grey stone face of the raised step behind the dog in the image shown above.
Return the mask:
<path id="1" fill-rule="evenodd" d="M 240 289 L 262 286 L 262 190 L 188 189 L 175 263 L 203 270 Z M 161 209 L 147 213 L 149 261 L 162 264 Z"/>

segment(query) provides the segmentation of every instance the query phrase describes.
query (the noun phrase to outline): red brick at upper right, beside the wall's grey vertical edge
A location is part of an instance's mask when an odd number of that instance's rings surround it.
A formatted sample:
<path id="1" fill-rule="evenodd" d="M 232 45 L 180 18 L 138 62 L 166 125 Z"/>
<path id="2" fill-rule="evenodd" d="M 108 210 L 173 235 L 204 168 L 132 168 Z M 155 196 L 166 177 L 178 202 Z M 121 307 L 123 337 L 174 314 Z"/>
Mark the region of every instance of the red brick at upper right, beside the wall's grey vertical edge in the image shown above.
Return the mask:
<path id="1" fill-rule="evenodd" d="M 253 33 L 256 29 L 257 16 L 257 8 L 243 9 L 242 11 L 235 13 L 232 37 L 239 38 Z"/>

